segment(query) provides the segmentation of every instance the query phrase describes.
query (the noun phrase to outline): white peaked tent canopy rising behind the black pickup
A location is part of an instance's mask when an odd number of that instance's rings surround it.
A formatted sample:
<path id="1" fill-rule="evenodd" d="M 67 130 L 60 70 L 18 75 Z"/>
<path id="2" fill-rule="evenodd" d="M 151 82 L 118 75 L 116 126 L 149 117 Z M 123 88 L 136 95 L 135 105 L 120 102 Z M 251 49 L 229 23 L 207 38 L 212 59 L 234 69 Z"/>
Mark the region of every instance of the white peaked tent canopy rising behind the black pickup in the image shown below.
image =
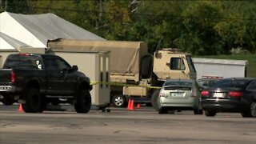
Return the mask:
<path id="1" fill-rule="evenodd" d="M 105 40 L 55 14 L 0 14 L 0 50 L 19 46 L 46 48 L 56 38 Z"/>

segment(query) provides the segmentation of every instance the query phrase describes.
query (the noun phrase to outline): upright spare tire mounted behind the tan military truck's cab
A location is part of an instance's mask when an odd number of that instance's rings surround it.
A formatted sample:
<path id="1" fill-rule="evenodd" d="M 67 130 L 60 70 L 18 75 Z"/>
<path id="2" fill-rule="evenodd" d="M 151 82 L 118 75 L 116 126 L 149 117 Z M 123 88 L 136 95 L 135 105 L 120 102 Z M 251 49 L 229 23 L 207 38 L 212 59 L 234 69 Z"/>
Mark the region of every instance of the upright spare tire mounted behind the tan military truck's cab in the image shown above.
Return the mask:
<path id="1" fill-rule="evenodd" d="M 150 78 L 153 69 L 153 58 L 150 54 L 142 58 L 142 78 Z"/>

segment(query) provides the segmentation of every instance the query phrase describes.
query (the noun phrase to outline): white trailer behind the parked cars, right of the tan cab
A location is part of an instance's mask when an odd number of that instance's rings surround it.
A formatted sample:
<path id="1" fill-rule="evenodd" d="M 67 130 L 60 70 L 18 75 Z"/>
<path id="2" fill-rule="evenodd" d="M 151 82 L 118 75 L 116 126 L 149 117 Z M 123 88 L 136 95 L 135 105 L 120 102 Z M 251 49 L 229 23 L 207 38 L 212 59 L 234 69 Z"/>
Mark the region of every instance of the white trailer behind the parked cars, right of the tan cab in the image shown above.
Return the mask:
<path id="1" fill-rule="evenodd" d="M 246 60 L 192 58 L 197 78 L 246 77 Z"/>

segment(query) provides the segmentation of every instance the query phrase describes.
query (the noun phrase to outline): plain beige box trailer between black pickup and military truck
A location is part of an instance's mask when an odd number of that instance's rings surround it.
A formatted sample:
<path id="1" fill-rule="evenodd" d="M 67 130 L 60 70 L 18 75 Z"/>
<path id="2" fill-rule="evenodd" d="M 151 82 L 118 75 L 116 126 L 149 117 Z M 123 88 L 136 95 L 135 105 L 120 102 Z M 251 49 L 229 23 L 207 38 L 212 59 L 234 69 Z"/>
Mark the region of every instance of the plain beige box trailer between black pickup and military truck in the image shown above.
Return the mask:
<path id="1" fill-rule="evenodd" d="M 110 104 L 110 54 L 109 52 L 89 52 L 84 50 L 50 50 L 48 54 L 56 54 L 64 58 L 71 66 L 86 74 L 94 84 L 90 91 L 92 105 L 104 107 Z M 99 83 L 98 83 L 99 82 Z"/>

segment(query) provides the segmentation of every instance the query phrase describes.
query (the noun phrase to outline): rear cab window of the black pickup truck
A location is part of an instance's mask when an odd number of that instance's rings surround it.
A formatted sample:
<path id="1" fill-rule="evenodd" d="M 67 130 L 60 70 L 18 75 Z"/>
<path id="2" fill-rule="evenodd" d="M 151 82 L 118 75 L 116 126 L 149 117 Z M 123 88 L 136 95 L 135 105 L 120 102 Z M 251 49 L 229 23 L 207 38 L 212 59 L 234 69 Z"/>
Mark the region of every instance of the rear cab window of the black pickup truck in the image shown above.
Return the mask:
<path id="1" fill-rule="evenodd" d="M 11 68 L 33 68 L 33 69 L 42 69 L 42 62 L 40 58 L 36 55 L 10 55 L 6 58 L 6 62 L 3 66 L 4 69 Z"/>

